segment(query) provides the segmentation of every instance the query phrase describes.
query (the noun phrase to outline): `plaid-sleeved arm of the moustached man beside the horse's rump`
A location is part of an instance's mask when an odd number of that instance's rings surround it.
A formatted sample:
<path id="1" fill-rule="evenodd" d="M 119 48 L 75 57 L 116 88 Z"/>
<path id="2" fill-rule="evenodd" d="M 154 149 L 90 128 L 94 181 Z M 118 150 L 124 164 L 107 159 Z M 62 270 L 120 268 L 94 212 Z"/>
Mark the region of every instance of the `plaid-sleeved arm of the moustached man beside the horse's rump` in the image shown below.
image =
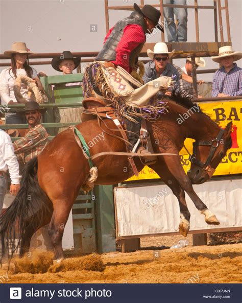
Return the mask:
<path id="1" fill-rule="evenodd" d="M 31 129 L 24 137 L 16 140 L 13 144 L 15 154 L 25 153 L 39 145 L 43 133 L 38 129 Z"/>

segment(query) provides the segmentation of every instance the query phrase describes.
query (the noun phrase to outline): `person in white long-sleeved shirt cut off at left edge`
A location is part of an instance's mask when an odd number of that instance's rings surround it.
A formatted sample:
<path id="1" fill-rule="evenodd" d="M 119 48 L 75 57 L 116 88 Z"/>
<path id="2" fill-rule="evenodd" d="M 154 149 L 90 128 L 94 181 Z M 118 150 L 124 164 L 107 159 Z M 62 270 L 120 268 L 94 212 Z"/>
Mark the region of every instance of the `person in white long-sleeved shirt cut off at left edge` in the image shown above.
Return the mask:
<path id="1" fill-rule="evenodd" d="M 0 129 L 0 214 L 4 204 L 4 197 L 7 191 L 6 172 L 9 170 L 11 178 L 10 193 L 13 196 L 19 191 L 19 166 L 10 136 Z"/>

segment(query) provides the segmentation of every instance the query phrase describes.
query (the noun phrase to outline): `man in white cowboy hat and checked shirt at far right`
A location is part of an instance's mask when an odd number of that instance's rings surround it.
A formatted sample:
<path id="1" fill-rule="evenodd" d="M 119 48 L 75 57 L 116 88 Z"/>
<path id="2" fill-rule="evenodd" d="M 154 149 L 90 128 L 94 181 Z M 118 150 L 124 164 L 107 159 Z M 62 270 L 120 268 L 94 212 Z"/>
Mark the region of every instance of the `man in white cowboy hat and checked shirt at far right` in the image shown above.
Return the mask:
<path id="1" fill-rule="evenodd" d="M 242 58 L 241 52 L 234 52 L 232 46 L 222 46 L 219 56 L 212 57 L 222 67 L 212 80 L 212 97 L 242 96 L 242 68 L 234 61 Z"/>

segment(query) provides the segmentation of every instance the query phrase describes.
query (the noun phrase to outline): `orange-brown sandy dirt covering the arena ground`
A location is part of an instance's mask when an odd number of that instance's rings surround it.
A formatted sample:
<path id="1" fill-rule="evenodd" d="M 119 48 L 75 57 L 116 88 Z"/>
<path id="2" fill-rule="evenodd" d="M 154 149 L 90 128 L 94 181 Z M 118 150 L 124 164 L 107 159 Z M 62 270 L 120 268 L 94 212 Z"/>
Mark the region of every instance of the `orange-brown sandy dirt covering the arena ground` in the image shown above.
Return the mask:
<path id="1" fill-rule="evenodd" d="M 68 270 L 6 274 L 6 268 L 3 267 L 0 270 L 0 278 L 3 275 L 8 276 L 8 280 L 4 278 L 3 281 L 1 278 L 2 283 L 242 282 L 242 244 L 197 247 L 189 245 L 180 249 L 140 250 L 131 253 L 109 252 L 99 257 L 104 265 L 102 271 Z M 72 261 L 82 262 L 83 258 L 85 257 L 77 257 Z M 71 263 L 70 258 L 68 263 Z"/>

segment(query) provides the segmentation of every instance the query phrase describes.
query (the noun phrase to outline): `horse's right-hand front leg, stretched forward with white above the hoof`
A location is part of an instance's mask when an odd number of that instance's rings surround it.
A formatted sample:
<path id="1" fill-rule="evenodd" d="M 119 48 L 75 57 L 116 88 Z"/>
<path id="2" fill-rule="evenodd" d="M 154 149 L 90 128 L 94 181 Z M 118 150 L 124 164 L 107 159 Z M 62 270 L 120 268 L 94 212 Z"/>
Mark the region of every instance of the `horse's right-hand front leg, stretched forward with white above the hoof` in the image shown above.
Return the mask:
<path id="1" fill-rule="evenodd" d="M 216 216 L 211 211 L 209 211 L 207 206 L 193 190 L 191 181 L 182 168 L 180 157 L 164 156 L 164 161 L 171 174 L 176 176 L 180 187 L 188 194 L 188 196 L 191 198 L 192 202 L 195 204 L 199 212 L 205 216 L 205 222 L 207 224 L 214 225 L 220 224 Z"/>

